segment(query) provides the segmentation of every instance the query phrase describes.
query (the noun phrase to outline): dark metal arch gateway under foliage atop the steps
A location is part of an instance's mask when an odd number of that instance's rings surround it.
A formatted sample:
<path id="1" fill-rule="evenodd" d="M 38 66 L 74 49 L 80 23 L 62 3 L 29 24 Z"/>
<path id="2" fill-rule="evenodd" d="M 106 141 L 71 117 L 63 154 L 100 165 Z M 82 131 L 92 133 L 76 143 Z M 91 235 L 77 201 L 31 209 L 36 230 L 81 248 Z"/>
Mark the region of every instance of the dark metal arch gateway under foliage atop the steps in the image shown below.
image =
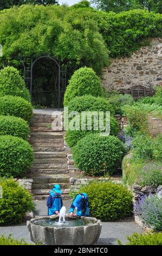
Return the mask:
<path id="1" fill-rule="evenodd" d="M 66 90 L 67 86 L 67 66 L 69 62 L 72 62 L 73 60 L 68 60 L 66 63 L 60 63 L 60 60 L 57 61 L 54 57 L 48 56 L 48 55 L 43 55 L 38 58 L 31 57 L 30 59 L 28 57 L 18 57 L 18 56 L 11 56 L 12 59 L 16 59 L 20 61 L 23 65 L 23 70 L 24 70 L 24 82 L 27 85 L 31 99 L 33 98 L 33 67 L 37 60 L 42 59 L 42 58 L 47 58 L 51 59 L 55 62 L 57 68 L 58 68 L 58 76 L 59 76 L 59 81 L 58 81 L 58 110 L 60 110 L 60 103 L 61 99 L 63 100 L 63 94 Z M 30 60 L 30 65 L 27 65 L 27 59 Z M 63 66 L 64 64 L 64 66 Z M 62 69 L 61 69 L 61 66 Z"/>

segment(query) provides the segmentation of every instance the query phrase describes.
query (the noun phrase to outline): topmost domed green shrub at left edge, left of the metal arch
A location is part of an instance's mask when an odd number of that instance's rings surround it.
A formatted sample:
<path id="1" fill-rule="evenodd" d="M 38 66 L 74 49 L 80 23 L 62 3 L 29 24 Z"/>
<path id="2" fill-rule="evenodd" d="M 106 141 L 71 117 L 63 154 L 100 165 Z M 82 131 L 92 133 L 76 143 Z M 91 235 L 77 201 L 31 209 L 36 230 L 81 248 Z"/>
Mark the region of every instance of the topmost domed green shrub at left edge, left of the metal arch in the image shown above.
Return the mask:
<path id="1" fill-rule="evenodd" d="M 4 95 L 20 96 L 30 101 L 30 94 L 23 78 L 12 66 L 7 66 L 0 71 L 0 96 Z"/>

